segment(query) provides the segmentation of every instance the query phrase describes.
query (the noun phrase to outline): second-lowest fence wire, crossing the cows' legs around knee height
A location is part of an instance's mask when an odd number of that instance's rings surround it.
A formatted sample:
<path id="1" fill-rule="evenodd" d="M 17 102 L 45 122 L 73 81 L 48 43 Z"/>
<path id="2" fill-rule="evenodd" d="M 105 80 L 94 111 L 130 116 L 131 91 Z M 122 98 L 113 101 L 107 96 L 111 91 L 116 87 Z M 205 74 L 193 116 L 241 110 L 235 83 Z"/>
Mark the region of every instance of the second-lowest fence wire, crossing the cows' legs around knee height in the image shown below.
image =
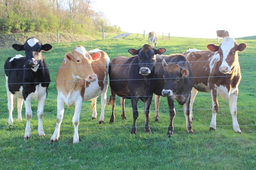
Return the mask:
<path id="1" fill-rule="evenodd" d="M 224 108 L 219 108 L 220 110 L 223 109 L 223 110 L 227 110 L 227 109 L 255 109 L 256 107 L 236 107 L 236 108 L 230 108 L 230 107 L 224 107 Z M 159 109 L 157 111 L 170 111 L 170 110 L 189 110 L 189 109 Z M 212 108 L 193 108 L 192 110 L 212 110 Z M 100 110 L 99 110 L 100 111 Z M 133 110 L 124 110 L 125 112 L 133 112 Z M 143 112 L 143 111 L 156 111 L 154 109 L 152 110 L 136 110 L 138 112 Z M 35 111 L 36 112 L 36 111 Z M 64 111 L 64 113 L 92 113 L 92 111 Z M 105 110 L 104 112 L 112 112 L 112 110 Z M 26 112 L 20 112 L 22 114 L 25 114 Z M 52 114 L 52 113 L 58 113 L 58 111 L 55 111 L 55 112 L 43 112 L 44 114 L 47 113 L 47 114 Z M 162 112 L 163 113 L 163 112 Z M 9 112 L 2 112 L 0 114 L 9 114 Z M 12 114 L 18 114 L 18 112 L 12 112 Z"/>

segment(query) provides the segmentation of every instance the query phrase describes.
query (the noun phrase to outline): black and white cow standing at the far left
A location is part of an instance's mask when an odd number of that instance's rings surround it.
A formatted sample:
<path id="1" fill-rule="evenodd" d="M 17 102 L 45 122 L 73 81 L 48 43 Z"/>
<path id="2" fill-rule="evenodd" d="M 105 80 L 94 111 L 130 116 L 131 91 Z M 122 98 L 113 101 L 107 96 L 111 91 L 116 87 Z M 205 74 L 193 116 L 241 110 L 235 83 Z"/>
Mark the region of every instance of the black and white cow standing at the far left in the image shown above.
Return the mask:
<path id="1" fill-rule="evenodd" d="M 38 100 L 38 135 L 45 136 L 43 129 L 44 103 L 47 97 L 47 88 L 50 84 L 50 75 L 43 59 L 42 51 L 52 49 L 50 44 L 42 45 L 36 38 L 29 38 L 25 44 L 13 44 L 17 51 L 24 50 L 26 56 L 15 55 L 4 63 L 6 91 L 8 97 L 9 121 L 13 123 L 13 100 L 17 97 L 18 119 L 21 120 L 21 108 L 24 99 L 26 107 L 26 129 L 24 139 L 30 138 L 30 119 L 32 117 L 31 99 Z"/>

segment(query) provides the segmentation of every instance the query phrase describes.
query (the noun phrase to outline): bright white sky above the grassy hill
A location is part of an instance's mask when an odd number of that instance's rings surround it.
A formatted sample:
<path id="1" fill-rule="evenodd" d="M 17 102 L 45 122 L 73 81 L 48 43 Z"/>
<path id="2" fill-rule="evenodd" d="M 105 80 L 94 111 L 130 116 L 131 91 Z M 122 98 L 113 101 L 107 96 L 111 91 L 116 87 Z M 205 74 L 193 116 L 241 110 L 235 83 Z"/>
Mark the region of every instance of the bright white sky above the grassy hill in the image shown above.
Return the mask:
<path id="1" fill-rule="evenodd" d="M 230 37 L 256 35 L 254 0 L 94 0 L 111 25 L 129 33 L 216 38 L 217 30 Z"/>

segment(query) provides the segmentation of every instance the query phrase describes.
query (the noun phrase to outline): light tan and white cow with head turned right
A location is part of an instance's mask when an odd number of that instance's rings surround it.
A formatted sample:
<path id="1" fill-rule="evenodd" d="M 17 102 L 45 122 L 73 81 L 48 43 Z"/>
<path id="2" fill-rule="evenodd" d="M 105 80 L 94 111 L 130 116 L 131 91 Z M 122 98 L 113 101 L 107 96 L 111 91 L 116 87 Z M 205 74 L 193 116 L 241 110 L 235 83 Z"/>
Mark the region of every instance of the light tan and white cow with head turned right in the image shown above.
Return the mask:
<path id="1" fill-rule="evenodd" d="M 92 119 L 97 117 L 96 100 L 101 94 L 101 114 L 99 123 L 104 122 L 104 109 L 108 89 L 109 57 L 100 49 L 87 52 L 83 46 L 77 46 L 72 53 L 65 55 L 56 77 L 57 124 L 51 141 L 60 136 L 60 124 L 64 114 L 64 104 L 75 105 L 72 119 L 74 125 L 73 143 L 79 142 L 78 124 L 83 101 L 92 100 Z"/>

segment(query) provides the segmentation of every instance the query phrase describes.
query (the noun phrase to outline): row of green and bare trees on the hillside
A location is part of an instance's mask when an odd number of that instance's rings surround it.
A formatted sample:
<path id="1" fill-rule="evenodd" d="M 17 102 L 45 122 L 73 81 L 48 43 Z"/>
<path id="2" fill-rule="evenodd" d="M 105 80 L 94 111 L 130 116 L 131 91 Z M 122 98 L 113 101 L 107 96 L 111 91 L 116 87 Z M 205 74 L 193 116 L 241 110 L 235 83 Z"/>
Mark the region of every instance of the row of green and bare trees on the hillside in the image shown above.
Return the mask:
<path id="1" fill-rule="evenodd" d="M 119 32 L 90 0 L 0 0 L 0 33 Z"/>

